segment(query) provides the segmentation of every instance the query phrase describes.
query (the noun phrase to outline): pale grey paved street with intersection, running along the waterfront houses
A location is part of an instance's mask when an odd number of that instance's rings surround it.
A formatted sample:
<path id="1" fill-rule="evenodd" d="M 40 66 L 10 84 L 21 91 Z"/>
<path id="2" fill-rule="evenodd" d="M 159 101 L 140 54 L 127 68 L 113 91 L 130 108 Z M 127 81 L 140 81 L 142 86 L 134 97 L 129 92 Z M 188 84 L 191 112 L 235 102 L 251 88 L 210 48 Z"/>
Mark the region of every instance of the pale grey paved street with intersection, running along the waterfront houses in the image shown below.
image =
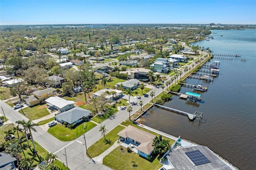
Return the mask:
<path id="1" fill-rule="evenodd" d="M 108 64 L 108 63 L 107 63 Z M 195 63 L 194 63 L 195 64 Z M 192 64 L 191 64 L 192 65 Z M 184 76 L 185 72 L 183 71 L 182 76 Z M 180 76 L 179 76 L 180 77 Z M 166 77 L 170 80 L 171 77 Z M 162 88 L 154 88 L 155 96 L 162 93 Z M 146 95 L 142 96 L 141 99 L 133 99 L 134 104 L 130 104 L 132 106 L 131 114 L 134 114 L 137 110 L 140 109 L 138 102 L 140 100 L 143 101 L 144 105 L 151 101 L 150 92 L 146 93 Z M 17 120 L 28 120 L 24 115 L 20 114 L 16 110 L 13 110 L 8 104 L 0 101 L 0 106 L 2 106 L 6 117 L 11 120 L 14 124 Z M 1 110 L 2 113 L 2 110 Z M 102 138 L 101 132 L 99 132 L 100 126 L 105 125 L 107 132 L 110 132 L 114 129 L 118 124 L 123 122 L 129 117 L 129 113 L 126 110 L 120 110 L 118 113 L 113 115 L 111 118 L 105 120 L 101 124 L 98 124 L 90 131 L 86 132 L 86 144 L 87 148 L 91 146 L 94 142 L 98 141 Z M 83 136 L 80 136 L 76 140 L 70 142 L 62 142 L 56 139 L 54 136 L 44 131 L 40 127 L 35 127 L 37 132 L 32 132 L 34 140 L 38 142 L 42 147 L 44 147 L 49 152 L 52 152 L 58 156 L 58 159 L 66 164 L 66 157 L 68 167 L 71 170 L 108 170 L 110 168 L 100 164 L 99 162 L 94 162 L 90 158 L 86 156 L 85 142 Z M 117 138 L 117 137 L 116 137 Z M 66 156 L 64 148 L 66 148 Z"/>

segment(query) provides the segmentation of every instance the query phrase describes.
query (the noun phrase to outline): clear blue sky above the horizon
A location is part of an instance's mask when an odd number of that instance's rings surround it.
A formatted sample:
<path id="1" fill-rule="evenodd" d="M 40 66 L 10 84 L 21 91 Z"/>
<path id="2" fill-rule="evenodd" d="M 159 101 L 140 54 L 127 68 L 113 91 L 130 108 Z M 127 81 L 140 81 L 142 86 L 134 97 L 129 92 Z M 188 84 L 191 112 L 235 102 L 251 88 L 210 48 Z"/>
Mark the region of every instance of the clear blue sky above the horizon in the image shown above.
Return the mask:
<path id="1" fill-rule="evenodd" d="M 256 0 L 0 0 L 0 25 L 256 24 Z"/>

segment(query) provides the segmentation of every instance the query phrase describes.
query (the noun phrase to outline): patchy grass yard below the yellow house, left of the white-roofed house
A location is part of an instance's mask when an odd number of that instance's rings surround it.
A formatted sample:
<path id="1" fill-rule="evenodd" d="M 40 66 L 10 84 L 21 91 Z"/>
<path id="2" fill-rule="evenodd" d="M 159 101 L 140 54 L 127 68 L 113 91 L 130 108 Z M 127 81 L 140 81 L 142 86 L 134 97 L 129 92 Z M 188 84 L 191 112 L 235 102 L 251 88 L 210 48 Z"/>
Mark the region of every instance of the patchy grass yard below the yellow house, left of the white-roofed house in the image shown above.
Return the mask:
<path id="1" fill-rule="evenodd" d="M 36 120 L 50 114 L 46 108 L 46 104 L 38 104 L 33 107 L 23 108 L 22 110 L 28 119 Z M 23 114 L 21 110 L 19 112 Z"/>

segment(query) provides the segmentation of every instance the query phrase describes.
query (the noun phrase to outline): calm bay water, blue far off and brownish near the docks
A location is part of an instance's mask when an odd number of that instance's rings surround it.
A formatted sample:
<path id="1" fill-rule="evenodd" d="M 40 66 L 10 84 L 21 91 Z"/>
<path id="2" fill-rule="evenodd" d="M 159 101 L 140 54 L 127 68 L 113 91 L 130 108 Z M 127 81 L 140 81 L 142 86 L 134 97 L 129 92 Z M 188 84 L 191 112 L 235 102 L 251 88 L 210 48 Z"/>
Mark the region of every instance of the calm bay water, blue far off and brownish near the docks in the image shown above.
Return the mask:
<path id="1" fill-rule="evenodd" d="M 242 170 L 256 167 L 256 30 L 212 30 L 214 39 L 195 45 L 209 47 L 215 54 L 240 54 L 246 58 L 220 61 L 220 74 L 213 82 L 187 79 L 186 83 L 208 86 L 207 92 L 182 87 L 180 92 L 202 94 L 190 102 L 173 96 L 164 106 L 185 112 L 204 112 L 202 122 L 153 108 L 143 116 L 146 126 L 181 136 L 207 146 Z M 223 35 L 223 36 L 220 36 Z M 196 75 L 195 75 L 196 76 Z"/>

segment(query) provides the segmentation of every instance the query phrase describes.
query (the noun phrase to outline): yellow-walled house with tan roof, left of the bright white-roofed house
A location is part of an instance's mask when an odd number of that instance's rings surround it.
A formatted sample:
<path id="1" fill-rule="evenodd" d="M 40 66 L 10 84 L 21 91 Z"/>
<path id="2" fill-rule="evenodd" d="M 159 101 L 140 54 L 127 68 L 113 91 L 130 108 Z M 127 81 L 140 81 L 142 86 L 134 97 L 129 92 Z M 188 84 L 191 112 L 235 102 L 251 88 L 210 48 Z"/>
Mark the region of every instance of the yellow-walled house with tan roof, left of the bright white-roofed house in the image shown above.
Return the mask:
<path id="1" fill-rule="evenodd" d="M 54 88 L 46 88 L 44 90 L 38 90 L 32 92 L 31 96 L 28 96 L 25 101 L 28 106 L 34 106 L 36 104 L 41 103 L 49 97 L 52 97 L 56 94 L 56 89 Z"/>

